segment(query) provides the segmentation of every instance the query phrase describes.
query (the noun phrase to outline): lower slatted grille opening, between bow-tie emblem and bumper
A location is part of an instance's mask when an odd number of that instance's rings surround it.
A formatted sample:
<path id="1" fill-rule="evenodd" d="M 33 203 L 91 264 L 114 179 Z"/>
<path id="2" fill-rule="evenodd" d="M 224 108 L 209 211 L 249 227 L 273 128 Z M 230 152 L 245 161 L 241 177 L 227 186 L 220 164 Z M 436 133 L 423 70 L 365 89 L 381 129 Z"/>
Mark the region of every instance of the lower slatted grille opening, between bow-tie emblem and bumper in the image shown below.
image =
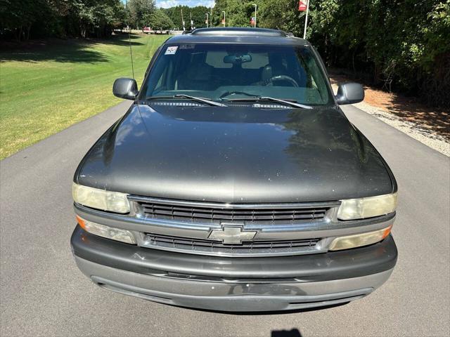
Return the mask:
<path id="1" fill-rule="evenodd" d="M 243 255 L 294 255 L 297 253 L 316 252 L 316 245 L 321 239 L 295 240 L 255 240 L 242 244 L 223 244 L 210 239 L 174 237 L 162 234 L 144 234 L 143 246 L 186 253 L 212 254 L 223 256 Z"/>

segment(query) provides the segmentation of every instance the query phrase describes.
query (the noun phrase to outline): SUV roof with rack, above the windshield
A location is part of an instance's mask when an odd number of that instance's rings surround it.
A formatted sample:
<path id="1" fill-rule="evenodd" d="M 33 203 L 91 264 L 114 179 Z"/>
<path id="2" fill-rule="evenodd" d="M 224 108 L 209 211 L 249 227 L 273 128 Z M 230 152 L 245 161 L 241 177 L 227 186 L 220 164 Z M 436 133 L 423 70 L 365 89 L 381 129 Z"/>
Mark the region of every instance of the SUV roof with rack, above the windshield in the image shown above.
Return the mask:
<path id="1" fill-rule="evenodd" d="M 166 44 L 277 44 L 310 46 L 305 39 L 294 37 L 282 30 L 266 28 L 199 28 L 167 39 Z"/>

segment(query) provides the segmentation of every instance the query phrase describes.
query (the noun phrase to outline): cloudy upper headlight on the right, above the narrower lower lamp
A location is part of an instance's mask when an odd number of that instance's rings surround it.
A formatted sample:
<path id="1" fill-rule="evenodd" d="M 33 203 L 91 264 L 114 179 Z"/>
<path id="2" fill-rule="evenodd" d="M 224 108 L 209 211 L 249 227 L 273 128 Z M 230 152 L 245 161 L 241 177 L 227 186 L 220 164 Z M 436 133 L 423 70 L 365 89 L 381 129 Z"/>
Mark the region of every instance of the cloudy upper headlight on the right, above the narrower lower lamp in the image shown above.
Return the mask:
<path id="1" fill-rule="evenodd" d="M 397 192 L 377 197 L 346 199 L 341 201 L 338 219 L 354 220 L 384 216 L 395 209 L 397 209 Z"/>

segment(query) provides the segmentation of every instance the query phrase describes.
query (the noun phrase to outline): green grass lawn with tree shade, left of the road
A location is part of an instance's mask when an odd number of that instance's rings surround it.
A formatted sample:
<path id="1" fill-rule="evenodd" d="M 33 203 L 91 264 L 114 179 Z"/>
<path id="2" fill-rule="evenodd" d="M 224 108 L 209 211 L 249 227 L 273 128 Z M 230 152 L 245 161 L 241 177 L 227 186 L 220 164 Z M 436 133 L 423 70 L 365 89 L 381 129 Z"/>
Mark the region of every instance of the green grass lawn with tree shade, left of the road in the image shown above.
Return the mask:
<path id="1" fill-rule="evenodd" d="M 132 36 L 139 86 L 167 35 Z M 117 77 L 131 77 L 128 36 L 50 40 L 0 53 L 0 159 L 120 103 Z"/>

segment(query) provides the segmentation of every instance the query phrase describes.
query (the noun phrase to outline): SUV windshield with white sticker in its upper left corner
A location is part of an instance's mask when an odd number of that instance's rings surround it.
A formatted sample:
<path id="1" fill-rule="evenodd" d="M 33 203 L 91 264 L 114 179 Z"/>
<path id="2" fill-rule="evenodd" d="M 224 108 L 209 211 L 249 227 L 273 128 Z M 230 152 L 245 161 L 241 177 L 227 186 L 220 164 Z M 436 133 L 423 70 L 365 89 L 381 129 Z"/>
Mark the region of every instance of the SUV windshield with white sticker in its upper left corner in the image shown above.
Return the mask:
<path id="1" fill-rule="evenodd" d="M 210 100 L 269 96 L 307 105 L 330 105 L 326 77 L 311 48 L 245 44 L 163 46 L 141 99 L 193 95 Z"/>

